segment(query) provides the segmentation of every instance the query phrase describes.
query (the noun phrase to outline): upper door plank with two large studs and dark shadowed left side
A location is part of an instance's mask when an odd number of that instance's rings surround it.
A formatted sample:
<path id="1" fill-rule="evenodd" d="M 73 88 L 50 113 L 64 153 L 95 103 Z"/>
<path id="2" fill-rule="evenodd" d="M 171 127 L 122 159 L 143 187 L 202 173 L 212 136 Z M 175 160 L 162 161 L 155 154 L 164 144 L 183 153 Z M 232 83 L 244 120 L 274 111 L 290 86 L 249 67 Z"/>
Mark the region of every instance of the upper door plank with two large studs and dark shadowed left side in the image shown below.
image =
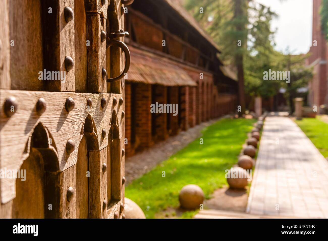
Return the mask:
<path id="1" fill-rule="evenodd" d="M 45 81 L 45 88 L 49 91 L 75 91 L 75 17 L 66 22 L 65 7 L 71 8 L 74 13 L 74 0 L 42 1 L 44 68 L 47 71 L 65 72 L 64 80 Z M 52 13 L 49 13 L 49 8 Z M 71 57 L 74 62 L 70 69 L 65 66 L 66 57 Z"/>

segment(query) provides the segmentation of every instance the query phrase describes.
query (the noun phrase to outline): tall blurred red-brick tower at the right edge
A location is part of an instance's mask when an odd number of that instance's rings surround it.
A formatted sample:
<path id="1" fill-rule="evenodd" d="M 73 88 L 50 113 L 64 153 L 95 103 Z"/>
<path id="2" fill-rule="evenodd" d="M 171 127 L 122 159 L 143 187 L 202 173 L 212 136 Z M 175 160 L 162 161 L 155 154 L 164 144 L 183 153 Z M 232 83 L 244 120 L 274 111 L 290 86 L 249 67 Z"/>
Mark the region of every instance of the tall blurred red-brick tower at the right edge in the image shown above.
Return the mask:
<path id="1" fill-rule="evenodd" d="M 308 104 L 316 105 L 318 114 L 325 113 L 328 107 L 328 79 L 327 79 L 327 41 L 321 30 L 320 5 L 322 0 L 313 0 L 312 46 L 311 56 L 306 64 L 313 66 L 314 76 L 309 83 Z M 324 108 L 320 108 L 324 107 Z"/>

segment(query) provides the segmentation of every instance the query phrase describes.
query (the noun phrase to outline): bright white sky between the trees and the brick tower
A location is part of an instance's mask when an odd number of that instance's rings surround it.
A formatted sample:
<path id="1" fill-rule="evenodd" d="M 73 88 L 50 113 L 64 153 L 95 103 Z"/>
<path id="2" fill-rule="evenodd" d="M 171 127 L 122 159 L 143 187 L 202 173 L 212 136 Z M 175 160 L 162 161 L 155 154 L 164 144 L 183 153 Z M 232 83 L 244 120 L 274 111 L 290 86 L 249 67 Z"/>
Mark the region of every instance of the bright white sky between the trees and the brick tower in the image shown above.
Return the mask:
<path id="1" fill-rule="evenodd" d="M 256 0 L 278 14 L 272 20 L 276 29 L 275 49 L 284 52 L 289 46 L 292 54 L 307 53 L 312 44 L 313 0 Z"/>

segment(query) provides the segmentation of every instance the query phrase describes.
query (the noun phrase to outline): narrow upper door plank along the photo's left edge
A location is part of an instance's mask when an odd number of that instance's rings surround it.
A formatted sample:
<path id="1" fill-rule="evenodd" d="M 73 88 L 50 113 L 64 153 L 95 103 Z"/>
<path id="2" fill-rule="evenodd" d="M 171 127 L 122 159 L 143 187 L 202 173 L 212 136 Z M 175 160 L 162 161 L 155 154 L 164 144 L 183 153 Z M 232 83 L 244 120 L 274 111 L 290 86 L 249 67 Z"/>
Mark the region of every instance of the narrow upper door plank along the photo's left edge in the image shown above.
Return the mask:
<path id="1" fill-rule="evenodd" d="M 0 89 L 10 89 L 10 39 L 8 0 L 0 0 Z"/>

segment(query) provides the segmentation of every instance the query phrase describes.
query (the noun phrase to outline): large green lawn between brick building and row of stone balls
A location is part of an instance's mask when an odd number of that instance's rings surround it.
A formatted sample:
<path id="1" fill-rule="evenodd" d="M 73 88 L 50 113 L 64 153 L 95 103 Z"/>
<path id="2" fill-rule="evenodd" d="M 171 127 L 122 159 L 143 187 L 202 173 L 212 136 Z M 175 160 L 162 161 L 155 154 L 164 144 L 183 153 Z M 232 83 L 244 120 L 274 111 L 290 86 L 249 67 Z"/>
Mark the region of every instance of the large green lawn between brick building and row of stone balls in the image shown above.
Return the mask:
<path id="1" fill-rule="evenodd" d="M 222 119 L 202 130 L 200 140 L 189 143 L 152 171 L 134 180 L 125 188 L 125 196 L 135 201 L 146 214 L 179 206 L 178 195 L 187 184 L 200 186 L 206 198 L 226 184 L 225 170 L 237 163 L 242 144 L 256 120 Z M 162 172 L 165 171 L 165 177 Z M 186 212 L 192 217 L 197 211 Z"/>

